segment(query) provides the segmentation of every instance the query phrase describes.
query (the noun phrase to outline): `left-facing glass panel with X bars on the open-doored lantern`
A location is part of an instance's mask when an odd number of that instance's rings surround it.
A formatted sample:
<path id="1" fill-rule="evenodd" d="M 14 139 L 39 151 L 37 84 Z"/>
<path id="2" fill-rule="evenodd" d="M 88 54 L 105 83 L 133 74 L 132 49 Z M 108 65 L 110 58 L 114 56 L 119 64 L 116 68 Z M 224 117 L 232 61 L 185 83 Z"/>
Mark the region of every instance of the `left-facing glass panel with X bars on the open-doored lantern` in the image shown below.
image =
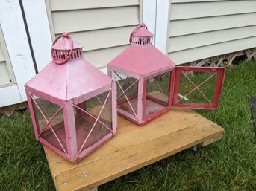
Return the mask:
<path id="1" fill-rule="evenodd" d="M 137 116 L 138 106 L 138 81 L 115 72 L 113 79 L 117 80 L 117 107 Z M 121 86 L 121 87 L 120 87 Z M 135 113 L 135 114 L 134 114 Z"/>

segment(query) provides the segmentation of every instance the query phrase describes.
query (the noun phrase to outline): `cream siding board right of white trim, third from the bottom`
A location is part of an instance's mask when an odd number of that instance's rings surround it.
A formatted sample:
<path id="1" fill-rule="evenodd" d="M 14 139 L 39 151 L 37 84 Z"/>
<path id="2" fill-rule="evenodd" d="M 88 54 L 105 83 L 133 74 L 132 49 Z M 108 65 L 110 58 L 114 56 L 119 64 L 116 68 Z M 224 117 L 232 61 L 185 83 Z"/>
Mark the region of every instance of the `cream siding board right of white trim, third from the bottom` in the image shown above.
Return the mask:
<path id="1" fill-rule="evenodd" d="M 169 23 L 169 36 L 181 36 L 251 25 L 256 25 L 256 13 L 176 20 Z"/>

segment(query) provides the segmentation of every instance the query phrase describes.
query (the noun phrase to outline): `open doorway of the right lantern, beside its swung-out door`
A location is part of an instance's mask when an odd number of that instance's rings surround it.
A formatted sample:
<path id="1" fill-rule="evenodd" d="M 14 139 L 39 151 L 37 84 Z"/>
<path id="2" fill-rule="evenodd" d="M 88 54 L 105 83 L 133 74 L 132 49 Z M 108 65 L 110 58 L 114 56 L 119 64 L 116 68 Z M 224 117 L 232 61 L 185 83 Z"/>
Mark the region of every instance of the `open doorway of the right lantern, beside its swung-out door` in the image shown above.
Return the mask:
<path id="1" fill-rule="evenodd" d="M 169 106 L 169 81 L 171 72 L 157 75 L 146 80 L 145 116 Z"/>

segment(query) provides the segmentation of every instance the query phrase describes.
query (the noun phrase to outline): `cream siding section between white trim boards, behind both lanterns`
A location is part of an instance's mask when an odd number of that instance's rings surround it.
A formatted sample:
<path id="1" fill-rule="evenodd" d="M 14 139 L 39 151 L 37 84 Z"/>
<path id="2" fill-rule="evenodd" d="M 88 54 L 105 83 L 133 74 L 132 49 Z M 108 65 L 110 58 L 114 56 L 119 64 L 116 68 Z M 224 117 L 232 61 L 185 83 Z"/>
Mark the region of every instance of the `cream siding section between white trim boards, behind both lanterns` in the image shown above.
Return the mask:
<path id="1" fill-rule="evenodd" d="M 128 45 L 140 7 L 140 0 L 46 0 L 52 39 L 69 32 L 84 46 L 84 59 L 100 68 Z"/>

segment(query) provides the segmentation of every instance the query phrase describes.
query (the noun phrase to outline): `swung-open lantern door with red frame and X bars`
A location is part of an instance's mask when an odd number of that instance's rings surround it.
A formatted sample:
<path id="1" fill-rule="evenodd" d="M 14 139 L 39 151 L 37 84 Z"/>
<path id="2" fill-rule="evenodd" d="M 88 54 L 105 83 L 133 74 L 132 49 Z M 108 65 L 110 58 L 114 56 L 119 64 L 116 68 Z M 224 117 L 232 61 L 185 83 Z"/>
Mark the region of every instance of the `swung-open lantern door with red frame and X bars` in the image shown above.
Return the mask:
<path id="1" fill-rule="evenodd" d="M 173 105 L 216 109 L 224 77 L 225 68 L 176 67 Z"/>

